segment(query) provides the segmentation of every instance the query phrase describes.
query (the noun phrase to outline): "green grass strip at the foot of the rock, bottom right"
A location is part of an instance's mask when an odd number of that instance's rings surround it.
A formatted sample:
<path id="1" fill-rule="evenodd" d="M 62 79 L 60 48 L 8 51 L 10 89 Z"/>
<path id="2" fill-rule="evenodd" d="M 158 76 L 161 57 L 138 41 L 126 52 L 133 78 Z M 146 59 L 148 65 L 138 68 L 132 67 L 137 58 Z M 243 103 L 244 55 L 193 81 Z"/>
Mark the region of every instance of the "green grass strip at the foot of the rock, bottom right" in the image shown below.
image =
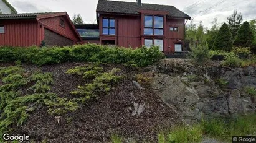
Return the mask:
<path id="1" fill-rule="evenodd" d="M 256 115 L 203 120 L 192 126 L 176 126 L 167 133 L 158 134 L 158 143 L 200 142 L 202 136 L 227 140 L 232 136 L 255 136 Z"/>

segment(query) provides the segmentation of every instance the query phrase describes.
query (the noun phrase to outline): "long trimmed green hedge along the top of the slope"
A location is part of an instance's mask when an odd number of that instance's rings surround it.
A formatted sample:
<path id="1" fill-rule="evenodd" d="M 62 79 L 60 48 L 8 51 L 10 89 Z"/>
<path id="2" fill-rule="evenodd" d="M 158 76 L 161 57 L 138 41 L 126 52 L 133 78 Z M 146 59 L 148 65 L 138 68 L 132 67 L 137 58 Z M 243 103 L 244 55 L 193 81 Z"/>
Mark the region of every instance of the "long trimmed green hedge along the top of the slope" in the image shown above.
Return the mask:
<path id="1" fill-rule="evenodd" d="M 21 61 L 34 63 L 39 66 L 44 64 L 57 64 L 67 61 L 116 63 L 135 66 L 148 66 L 164 58 L 159 48 L 109 48 L 105 45 L 87 44 L 73 45 L 64 48 L 0 48 L 0 61 Z"/>

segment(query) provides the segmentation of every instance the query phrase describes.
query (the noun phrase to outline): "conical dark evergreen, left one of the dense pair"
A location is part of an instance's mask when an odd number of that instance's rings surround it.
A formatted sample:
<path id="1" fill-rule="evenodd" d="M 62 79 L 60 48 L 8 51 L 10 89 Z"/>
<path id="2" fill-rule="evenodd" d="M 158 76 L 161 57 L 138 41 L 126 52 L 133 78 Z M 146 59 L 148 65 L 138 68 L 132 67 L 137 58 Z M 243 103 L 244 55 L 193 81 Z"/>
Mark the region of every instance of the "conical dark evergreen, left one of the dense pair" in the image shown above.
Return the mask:
<path id="1" fill-rule="evenodd" d="M 221 27 L 220 30 L 214 40 L 214 45 L 213 48 L 214 50 L 225 50 L 225 51 L 230 51 L 232 50 L 232 35 L 229 30 L 229 26 L 224 23 Z"/>

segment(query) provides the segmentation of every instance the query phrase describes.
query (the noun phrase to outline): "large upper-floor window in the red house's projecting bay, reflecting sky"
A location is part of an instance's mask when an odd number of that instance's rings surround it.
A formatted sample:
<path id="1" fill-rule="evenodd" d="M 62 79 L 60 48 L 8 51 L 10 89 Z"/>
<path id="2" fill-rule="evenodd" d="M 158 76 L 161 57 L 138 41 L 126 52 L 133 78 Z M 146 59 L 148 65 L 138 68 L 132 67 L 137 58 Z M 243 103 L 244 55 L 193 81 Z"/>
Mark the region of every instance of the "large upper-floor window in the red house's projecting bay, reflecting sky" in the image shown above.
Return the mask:
<path id="1" fill-rule="evenodd" d="M 163 16 L 144 16 L 144 35 L 164 35 Z"/>

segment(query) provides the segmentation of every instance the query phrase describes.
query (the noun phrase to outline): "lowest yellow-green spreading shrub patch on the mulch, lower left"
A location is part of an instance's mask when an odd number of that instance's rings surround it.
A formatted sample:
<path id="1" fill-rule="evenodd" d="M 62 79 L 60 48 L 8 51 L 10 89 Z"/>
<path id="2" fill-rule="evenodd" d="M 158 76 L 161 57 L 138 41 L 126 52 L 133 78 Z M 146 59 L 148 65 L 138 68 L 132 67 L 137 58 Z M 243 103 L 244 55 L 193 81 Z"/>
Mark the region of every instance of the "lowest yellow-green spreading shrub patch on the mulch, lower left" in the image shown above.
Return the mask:
<path id="1" fill-rule="evenodd" d="M 56 98 L 55 100 L 44 100 L 48 106 L 50 115 L 62 115 L 68 111 L 75 111 L 79 107 L 78 103 L 67 100 L 67 98 Z"/>

